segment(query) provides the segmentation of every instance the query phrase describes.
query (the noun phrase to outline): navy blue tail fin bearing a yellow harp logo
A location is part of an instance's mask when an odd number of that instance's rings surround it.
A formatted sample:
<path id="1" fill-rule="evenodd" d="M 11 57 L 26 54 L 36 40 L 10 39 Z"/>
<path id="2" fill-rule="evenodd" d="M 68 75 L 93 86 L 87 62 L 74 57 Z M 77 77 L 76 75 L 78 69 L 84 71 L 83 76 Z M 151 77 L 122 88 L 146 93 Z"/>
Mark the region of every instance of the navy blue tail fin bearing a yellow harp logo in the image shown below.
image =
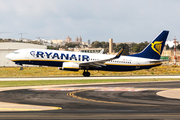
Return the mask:
<path id="1" fill-rule="evenodd" d="M 169 31 L 162 31 L 143 51 L 129 56 L 160 59 L 168 34 Z"/>

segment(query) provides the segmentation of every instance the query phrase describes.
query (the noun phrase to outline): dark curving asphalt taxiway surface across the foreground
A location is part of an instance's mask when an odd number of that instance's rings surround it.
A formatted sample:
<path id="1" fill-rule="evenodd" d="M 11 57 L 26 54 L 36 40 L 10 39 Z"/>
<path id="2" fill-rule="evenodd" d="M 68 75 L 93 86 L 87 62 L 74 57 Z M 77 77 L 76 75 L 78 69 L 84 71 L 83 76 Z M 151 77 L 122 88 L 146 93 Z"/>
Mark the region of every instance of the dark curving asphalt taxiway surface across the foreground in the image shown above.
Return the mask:
<path id="1" fill-rule="evenodd" d="M 180 99 L 156 94 L 179 86 L 174 81 L 2 91 L 1 102 L 62 109 L 0 112 L 0 119 L 179 119 Z"/>

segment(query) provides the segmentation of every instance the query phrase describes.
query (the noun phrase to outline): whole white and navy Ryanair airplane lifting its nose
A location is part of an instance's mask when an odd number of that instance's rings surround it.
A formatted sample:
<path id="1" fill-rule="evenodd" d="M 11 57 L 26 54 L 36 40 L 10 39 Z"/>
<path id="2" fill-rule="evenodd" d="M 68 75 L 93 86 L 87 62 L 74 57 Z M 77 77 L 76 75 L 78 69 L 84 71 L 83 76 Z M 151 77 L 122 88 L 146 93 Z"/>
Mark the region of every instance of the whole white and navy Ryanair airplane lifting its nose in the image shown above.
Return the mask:
<path id="1" fill-rule="evenodd" d="M 88 70 L 133 71 L 150 69 L 162 64 L 160 60 L 169 31 L 162 31 L 140 53 L 123 56 L 122 48 L 116 55 L 102 53 L 83 53 L 47 49 L 19 49 L 6 55 L 15 64 L 31 64 L 59 67 L 60 70 L 84 70 L 83 76 L 89 77 Z"/>

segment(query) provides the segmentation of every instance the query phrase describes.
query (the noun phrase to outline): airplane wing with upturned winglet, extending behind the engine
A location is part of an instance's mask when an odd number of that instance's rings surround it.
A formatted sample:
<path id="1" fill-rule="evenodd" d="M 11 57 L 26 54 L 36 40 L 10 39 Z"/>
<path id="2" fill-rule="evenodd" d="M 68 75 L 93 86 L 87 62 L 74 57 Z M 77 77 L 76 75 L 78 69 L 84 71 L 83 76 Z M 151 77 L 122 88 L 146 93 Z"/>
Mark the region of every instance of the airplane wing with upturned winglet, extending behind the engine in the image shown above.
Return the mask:
<path id="1" fill-rule="evenodd" d="M 98 61 L 92 61 L 92 62 L 82 62 L 82 63 L 79 63 L 79 66 L 80 67 L 101 67 L 101 66 L 106 66 L 106 65 L 104 65 L 105 62 L 119 58 L 121 56 L 123 50 L 124 50 L 124 48 L 122 48 L 118 52 L 118 54 L 113 58 L 104 59 L 104 60 L 98 60 Z"/>

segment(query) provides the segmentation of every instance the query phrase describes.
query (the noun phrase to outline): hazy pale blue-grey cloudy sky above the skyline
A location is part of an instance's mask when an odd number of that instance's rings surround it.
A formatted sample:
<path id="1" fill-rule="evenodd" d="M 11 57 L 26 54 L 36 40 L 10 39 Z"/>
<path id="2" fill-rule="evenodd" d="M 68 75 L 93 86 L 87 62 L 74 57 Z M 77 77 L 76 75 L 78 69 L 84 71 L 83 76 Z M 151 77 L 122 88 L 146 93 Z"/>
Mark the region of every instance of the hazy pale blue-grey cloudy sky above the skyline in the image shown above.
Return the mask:
<path id="1" fill-rule="evenodd" d="M 151 41 L 162 30 L 180 41 L 180 0 L 0 0 L 0 38 L 84 42 Z"/>

